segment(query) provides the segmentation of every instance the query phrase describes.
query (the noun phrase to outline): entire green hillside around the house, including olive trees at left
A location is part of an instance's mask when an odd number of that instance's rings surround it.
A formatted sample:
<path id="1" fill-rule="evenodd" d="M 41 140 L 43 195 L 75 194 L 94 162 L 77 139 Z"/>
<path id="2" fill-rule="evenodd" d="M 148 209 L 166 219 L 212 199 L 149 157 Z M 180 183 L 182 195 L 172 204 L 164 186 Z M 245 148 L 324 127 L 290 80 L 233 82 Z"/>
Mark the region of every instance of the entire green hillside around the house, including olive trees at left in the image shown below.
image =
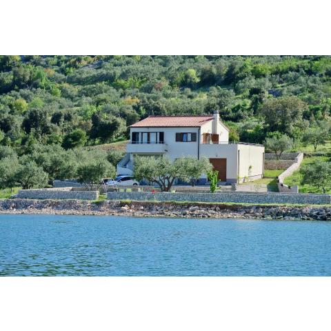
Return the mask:
<path id="1" fill-rule="evenodd" d="M 0 189 L 113 177 L 150 114 L 219 110 L 232 141 L 328 161 L 330 106 L 331 57 L 0 56 Z M 316 169 L 328 192 L 330 163 Z"/>

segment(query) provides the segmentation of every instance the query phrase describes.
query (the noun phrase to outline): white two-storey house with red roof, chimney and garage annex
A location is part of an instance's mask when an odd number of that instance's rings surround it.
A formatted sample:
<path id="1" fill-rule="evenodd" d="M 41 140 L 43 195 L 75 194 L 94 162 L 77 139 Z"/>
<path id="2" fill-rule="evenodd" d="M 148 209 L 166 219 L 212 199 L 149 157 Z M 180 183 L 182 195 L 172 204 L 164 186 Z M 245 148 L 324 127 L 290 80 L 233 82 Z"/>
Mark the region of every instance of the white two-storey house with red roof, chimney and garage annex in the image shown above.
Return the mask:
<path id="1" fill-rule="evenodd" d="M 208 157 L 228 183 L 263 177 L 264 147 L 252 143 L 229 143 L 229 129 L 219 112 L 205 116 L 150 116 L 130 126 L 130 143 L 117 165 L 118 174 L 132 174 L 136 155 Z M 206 176 L 199 179 L 205 183 Z"/>

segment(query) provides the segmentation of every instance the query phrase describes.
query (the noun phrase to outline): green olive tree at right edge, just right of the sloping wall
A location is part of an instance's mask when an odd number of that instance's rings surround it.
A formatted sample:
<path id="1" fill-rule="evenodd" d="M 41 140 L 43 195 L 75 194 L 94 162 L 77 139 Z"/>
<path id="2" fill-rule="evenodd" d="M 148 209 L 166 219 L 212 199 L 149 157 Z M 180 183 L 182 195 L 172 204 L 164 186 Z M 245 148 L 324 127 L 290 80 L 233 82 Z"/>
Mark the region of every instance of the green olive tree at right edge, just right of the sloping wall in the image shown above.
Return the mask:
<path id="1" fill-rule="evenodd" d="M 305 165 L 300 170 L 302 174 L 301 182 L 303 184 L 311 184 L 323 194 L 331 189 L 331 164 L 330 162 L 317 161 L 309 165 Z"/>

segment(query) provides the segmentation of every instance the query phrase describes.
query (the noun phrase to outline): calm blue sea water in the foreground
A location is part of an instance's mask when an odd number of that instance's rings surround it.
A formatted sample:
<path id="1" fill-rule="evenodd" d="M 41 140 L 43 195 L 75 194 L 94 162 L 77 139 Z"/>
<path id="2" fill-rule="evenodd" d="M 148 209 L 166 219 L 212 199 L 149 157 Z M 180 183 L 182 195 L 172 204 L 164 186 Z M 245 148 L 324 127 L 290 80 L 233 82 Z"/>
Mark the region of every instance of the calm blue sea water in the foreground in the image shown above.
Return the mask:
<path id="1" fill-rule="evenodd" d="M 331 222 L 0 215 L 1 276 L 331 275 Z"/>

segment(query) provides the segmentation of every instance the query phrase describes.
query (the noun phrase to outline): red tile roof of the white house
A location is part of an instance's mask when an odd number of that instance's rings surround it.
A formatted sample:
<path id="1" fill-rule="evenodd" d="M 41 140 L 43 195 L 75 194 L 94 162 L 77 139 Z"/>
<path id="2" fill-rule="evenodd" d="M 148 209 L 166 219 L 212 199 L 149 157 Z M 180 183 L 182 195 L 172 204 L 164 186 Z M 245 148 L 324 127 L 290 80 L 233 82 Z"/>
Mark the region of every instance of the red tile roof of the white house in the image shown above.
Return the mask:
<path id="1" fill-rule="evenodd" d="M 212 121 L 212 115 L 204 116 L 149 116 L 142 121 L 132 124 L 130 128 L 171 128 L 171 127 L 198 127 Z"/>

